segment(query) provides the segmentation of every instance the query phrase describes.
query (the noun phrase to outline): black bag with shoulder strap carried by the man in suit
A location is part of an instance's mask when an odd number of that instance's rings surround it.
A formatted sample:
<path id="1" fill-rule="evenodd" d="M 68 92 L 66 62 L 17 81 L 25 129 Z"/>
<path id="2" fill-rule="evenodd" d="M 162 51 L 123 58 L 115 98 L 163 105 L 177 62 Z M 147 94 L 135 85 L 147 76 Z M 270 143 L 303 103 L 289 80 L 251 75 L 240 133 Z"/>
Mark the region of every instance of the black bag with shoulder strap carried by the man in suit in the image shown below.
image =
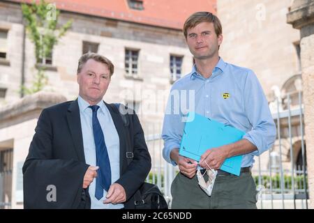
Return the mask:
<path id="1" fill-rule="evenodd" d="M 124 122 L 124 127 L 126 127 L 128 132 L 127 140 L 130 141 L 130 131 L 128 130 L 128 126 L 130 125 L 130 118 L 127 117 L 126 112 L 121 114 L 119 111 L 120 107 L 122 107 L 121 109 L 128 108 L 121 104 L 110 104 L 110 106 L 121 115 L 122 121 Z M 130 143 L 128 143 L 128 145 L 130 145 Z M 127 146 L 127 152 L 133 154 L 133 148 L 130 147 L 131 146 Z M 131 159 L 128 159 L 128 164 L 130 164 L 131 161 Z M 167 201 L 163 197 L 162 192 L 160 192 L 157 185 L 152 183 L 143 183 L 140 189 L 135 192 L 134 199 L 135 209 L 168 209 Z"/>

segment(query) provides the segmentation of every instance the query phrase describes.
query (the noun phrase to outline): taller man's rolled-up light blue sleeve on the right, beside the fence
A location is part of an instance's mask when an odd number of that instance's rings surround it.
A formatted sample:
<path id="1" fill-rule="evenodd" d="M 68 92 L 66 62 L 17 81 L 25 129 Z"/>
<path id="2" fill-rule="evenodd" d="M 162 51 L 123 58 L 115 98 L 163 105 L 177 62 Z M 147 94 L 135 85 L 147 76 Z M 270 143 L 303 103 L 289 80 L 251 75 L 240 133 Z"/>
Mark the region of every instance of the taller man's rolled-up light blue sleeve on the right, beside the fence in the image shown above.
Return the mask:
<path id="1" fill-rule="evenodd" d="M 267 98 L 253 71 L 248 72 L 244 86 L 244 108 L 252 129 L 244 135 L 257 147 L 253 155 L 261 155 L 274 145 L 276 125 L 269 110 Z"/>

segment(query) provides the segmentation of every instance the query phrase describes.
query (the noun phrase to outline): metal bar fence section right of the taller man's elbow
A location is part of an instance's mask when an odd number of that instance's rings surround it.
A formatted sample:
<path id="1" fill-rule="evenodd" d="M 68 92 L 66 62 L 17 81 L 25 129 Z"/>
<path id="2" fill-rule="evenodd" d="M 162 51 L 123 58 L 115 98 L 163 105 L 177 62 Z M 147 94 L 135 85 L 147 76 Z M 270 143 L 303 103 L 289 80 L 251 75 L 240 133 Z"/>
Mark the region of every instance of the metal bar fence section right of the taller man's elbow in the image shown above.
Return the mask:
<path id="1" fill-rule="evenodd" d="M 308 208 L 306 144 L 302 93 L 276 99 L 273 113 L 276 143 L 266 154 L 268 165 L 257 157 L 253 175 L 259 190 L 260 208 Z"/>

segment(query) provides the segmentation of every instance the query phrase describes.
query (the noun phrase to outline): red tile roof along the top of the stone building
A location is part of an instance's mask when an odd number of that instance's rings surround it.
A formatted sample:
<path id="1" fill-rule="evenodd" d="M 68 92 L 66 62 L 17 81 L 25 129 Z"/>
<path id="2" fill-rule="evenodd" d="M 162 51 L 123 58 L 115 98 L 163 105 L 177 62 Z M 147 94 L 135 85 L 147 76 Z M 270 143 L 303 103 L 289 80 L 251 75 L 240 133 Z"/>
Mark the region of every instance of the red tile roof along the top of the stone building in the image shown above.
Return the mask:
<path id="1" fill-rule="evenodd" d="M 33 2 L 32 0 L 12 1 Z M 197 11 L 206 10 L 216 13 L 216 0 L 143 0 L 144 10 L 129 8 L 127 0 L 52 0 L 50 2 L 55 2 L 57 8 L 70 12 L 172 29 L 182 29 L 186 18 Z"/>

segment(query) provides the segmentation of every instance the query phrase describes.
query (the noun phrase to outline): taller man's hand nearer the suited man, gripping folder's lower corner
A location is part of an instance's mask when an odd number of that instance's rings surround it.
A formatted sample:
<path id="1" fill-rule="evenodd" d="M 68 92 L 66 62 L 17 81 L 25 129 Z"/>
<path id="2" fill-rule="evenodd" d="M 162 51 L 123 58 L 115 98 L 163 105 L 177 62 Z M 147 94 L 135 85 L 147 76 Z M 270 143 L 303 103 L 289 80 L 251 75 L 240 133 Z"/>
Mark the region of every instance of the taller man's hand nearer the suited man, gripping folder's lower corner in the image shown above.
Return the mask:
<path id="1" fill-rule="evenodd" d="M 179 148 L 172 149 L 170 157 L 174 162 L 177 162 L 181 174 L 188 178 L 193 178 L 196 174 L 197 162 L 188 157 L 179 155 Z"/>

